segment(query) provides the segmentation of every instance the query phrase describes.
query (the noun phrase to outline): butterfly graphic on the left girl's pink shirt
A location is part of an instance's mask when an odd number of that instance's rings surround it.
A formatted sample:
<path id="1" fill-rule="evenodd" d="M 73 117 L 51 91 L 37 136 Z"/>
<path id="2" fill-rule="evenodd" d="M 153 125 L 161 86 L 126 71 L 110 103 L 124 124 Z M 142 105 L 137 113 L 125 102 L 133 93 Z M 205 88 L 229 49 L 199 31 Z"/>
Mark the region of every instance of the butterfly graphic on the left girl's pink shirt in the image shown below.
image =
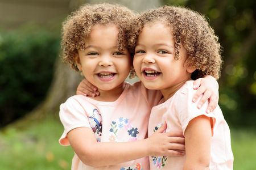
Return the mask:
<path id="1" fill-rule="evenodd" d="M 93 113 L 89 116 L 90 127 L 94 131 L 101 136 L 102 132 L 102 117 L 97 109 L 93 109 Z"/>

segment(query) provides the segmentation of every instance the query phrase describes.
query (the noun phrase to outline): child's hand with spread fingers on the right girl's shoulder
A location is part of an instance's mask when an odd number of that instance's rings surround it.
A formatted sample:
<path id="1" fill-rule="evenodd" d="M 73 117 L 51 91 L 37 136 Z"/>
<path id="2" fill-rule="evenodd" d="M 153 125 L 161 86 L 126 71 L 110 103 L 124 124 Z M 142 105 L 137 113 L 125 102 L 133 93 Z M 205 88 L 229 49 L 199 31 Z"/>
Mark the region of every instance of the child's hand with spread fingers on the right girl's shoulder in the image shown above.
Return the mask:
<path id="1" fill-rule="evenodd" d="M 197 89 L 196 94 L 193 96 L 192 101 L 196 102 L 200 95 L 203 97 L 199 101 L 197 108 L 201 108 L 205 101 L 209 100 L 207 107 L 207 113 L 212 112 L 218 104 L 218 82 L 213 76 L 205 76 L 195 80 L 193 83 L 193 88 Z"/>

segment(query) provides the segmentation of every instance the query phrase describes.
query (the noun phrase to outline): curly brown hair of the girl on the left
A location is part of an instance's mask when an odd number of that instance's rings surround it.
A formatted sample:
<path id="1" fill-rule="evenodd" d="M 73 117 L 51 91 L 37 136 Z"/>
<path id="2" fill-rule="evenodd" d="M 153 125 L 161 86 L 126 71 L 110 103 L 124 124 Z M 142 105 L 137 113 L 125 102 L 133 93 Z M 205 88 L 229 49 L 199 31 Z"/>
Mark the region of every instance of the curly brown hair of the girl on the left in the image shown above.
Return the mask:
<path id="1" fill-rule="evenodd" d="M 83 5 L 63 22 L 61 47 L 63 60 L 71 65 L 72 69 L 79 71 L 75 62 L 77 50 L 86 45 L 92 27 L 96 24 L 115 24 L 119 29 L 118 49 L 125 50 L 127 46 L 126 33 L 129 29 L 133 11 L 121 5 L 100 3 L 96 5 Z"/>

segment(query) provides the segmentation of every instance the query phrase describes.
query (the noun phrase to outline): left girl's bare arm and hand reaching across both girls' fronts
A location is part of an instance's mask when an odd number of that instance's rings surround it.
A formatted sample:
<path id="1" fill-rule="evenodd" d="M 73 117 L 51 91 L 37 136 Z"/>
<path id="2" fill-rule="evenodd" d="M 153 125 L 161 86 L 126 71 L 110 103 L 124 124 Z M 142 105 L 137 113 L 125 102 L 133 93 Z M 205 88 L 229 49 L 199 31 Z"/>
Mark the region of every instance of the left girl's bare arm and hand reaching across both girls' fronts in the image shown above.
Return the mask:
<path id="1" fill-rule="evenodd" d="M 68 133 L 68 140 L 81 161 L 92 167 L 123 163 L 149 155 L 183 155 L 182 133 L 162 133 L 164 129 L 160 128 L 150 138 L 133 142 L 97 142 L 91 129 L 76 128 Z"/>

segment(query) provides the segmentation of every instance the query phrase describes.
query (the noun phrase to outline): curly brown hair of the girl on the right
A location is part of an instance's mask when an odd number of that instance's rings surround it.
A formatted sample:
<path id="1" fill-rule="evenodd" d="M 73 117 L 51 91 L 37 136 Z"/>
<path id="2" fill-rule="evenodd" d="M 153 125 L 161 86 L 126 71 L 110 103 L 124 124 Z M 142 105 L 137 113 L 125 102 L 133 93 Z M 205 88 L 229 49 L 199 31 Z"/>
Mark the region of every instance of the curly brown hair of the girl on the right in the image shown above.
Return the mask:
<path id="1" fill-rule="evenodd" d="M 175 59 L 181 44 L 187 52 L 186 64 L 195 67 L 191 78 L 212 75 L 218 79 L 222 65 L 221 46 L 205 17 L 185 7 L 163 6 L 138 14 L 130 24 L 128 47 L 134 50 L 145 24 L 163 22 L 174 34 Z M 148 35 L 150 36 L 150 35 Z"/>

